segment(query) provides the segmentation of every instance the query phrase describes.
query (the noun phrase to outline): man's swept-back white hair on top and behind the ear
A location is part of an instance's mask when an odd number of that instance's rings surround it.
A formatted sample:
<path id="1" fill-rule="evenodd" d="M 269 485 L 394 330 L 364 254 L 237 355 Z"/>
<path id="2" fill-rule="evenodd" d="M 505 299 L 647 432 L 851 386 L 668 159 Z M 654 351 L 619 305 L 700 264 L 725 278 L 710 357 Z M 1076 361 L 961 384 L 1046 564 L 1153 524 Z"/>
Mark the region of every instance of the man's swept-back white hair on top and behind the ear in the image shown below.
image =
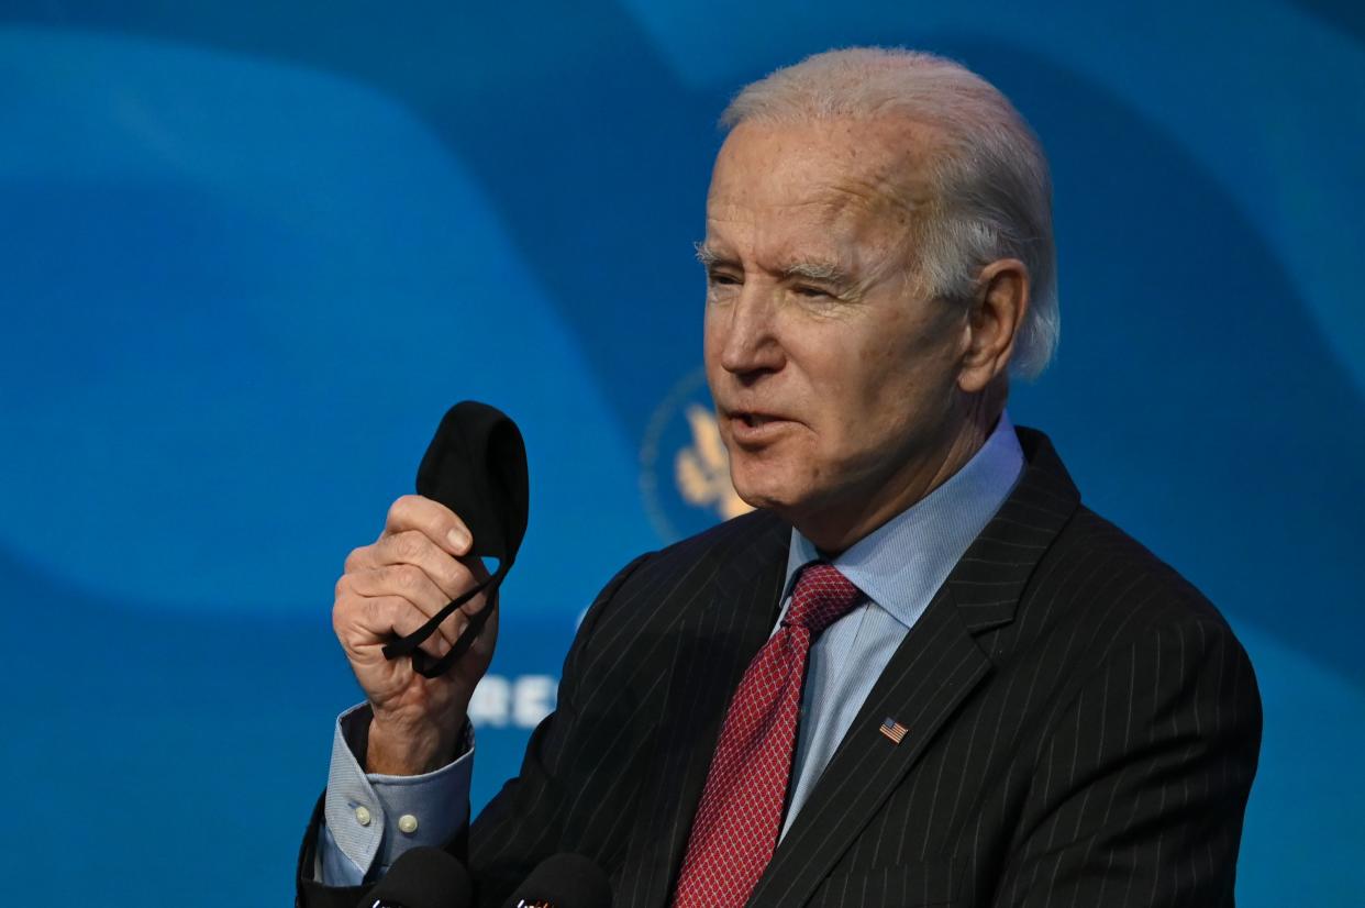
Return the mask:
<path id="1" fill-rule="evenodd" d="M 1028 268 L 1032 299 L 1011 370 L 1033 378 L 1057 348 L 1052 180 L 1037 137 L 990 82 L 919 51 L 827 51 L 745 86 L 721 124 L 905 116 L 942 134 L 931 167 L 934 205 L 919 225 L 920 276 L 936 296 L 966 300 L 1001 258 Z"/>

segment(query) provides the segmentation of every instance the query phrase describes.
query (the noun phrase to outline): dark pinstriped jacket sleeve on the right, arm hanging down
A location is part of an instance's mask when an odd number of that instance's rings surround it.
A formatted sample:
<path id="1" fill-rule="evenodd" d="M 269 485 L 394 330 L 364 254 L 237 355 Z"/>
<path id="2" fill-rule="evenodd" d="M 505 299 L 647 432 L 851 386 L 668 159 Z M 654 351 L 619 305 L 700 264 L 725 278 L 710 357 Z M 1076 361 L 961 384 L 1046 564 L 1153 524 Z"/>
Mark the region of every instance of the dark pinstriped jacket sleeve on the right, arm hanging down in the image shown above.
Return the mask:
<path id="1" fill-rule="evenodd" d="M 1152 627 L 1043 739 L 998 908 L 1231 908 L 1261 706 L 1233 632 Z"/>

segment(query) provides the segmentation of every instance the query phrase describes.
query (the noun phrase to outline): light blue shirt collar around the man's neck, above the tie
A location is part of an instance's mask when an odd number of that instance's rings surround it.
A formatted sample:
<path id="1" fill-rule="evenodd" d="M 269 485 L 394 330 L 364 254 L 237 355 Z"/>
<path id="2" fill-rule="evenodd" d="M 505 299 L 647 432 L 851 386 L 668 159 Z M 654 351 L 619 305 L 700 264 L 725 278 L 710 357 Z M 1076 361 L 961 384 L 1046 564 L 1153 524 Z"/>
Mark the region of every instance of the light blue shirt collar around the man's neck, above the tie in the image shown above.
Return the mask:
<path id="1" fill-rule="evenodd" d="M 849 546 L 833 564 L 853 586 L 910 627 L 1024 470 L 1014 425 L 1001 414 L 995 430 L 947 482 Z M 782 598 L 796 573 L 820 554 L 796 528 L 786 557 Z"/>

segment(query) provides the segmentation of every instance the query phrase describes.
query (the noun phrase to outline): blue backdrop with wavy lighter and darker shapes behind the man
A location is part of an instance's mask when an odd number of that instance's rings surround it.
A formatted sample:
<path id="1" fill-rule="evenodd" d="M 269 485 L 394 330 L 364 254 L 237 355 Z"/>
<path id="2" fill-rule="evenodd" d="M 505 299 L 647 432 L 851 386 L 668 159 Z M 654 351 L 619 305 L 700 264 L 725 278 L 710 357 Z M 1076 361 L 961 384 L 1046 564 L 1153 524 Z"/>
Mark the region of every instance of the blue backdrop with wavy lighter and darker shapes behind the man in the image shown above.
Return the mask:
<path id="1" fill-rule="evenodd" d="M 11 898 L 288 903 L 358 696 L 332 584 L 465 397 L 532 477 L 486 800 L 597 587 L 717 519 L 673 475 L 717 115 L 875 42 L 962 60 L 1047 146 L 1063 341 L 1011 412 L 1252 653 L 1241 904 L 1365 904 L 1365 14 L 1235 10 L 5 0 Z"/>

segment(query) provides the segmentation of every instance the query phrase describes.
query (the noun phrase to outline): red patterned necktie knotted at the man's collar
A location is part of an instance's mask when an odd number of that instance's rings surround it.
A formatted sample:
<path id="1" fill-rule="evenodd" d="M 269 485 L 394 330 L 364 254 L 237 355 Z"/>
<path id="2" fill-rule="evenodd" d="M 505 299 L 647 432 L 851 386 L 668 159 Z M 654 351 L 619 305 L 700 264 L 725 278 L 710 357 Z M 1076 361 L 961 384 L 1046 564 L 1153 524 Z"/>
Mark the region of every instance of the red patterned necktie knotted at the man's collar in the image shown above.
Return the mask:
<path id="1" fill-rule="evenodd" d="M 811 640 L 859 590 L 829 564 L 803 568 L 792 608 L 734 691 L 692 821 L 677 908 L 743 905 L 777 848 Z"/>

